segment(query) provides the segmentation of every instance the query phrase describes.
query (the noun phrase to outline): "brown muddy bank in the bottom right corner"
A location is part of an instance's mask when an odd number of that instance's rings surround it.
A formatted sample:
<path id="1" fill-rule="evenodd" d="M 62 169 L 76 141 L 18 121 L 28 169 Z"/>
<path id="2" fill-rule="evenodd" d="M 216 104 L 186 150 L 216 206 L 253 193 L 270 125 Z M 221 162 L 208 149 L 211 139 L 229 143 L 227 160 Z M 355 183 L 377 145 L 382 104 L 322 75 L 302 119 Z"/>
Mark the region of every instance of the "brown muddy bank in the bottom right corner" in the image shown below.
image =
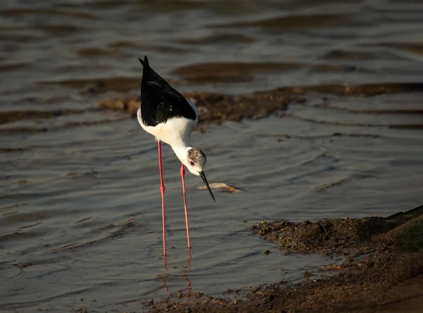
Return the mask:
<path id="1" fill-rule="evenodd" d="M 257 286 L 248 300 L 179 294 L 151 312 L 422 312 L 423 206 L 386 218 L 262 222 L 252 231 L 287 252 L 342 255 L 333 276 Z"/>

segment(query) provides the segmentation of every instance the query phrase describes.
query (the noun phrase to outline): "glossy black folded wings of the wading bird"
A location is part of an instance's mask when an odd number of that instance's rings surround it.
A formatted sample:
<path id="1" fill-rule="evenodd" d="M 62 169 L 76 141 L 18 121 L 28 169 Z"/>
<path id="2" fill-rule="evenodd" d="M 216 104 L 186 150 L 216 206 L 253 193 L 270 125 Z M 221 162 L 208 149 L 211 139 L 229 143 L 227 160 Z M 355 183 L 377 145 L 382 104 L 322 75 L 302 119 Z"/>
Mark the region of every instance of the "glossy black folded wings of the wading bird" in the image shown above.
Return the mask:
<path id="1" fill-rule="evenodd" d="M 166 123 L 169 118 L 185 117 L 191 120 L 197 118 L 192 106 L 182 94 L 149 67 L 147 56 L 144 61 L 141 82 L 141 116 L 142 122 L 148 126 Z"/>

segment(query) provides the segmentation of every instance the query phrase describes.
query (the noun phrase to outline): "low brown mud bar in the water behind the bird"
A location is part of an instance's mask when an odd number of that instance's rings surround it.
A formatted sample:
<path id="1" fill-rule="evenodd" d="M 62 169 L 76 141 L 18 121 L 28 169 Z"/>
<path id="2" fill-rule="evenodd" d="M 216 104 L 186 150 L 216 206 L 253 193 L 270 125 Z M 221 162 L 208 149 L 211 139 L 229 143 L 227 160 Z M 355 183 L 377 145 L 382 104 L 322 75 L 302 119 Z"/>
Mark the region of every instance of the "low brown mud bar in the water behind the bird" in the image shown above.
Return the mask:
<path id="1" fill-rule="evenodd" d="M 243 118 L 262 118 L 277 111 L 286 111 L 288 104 L 301 104 L 317 100 L 326 104 L 328 97 L 372 97 L 380 94 L 423 92 L 421 83 L 374 83 L 364 85 L 317 85 L 281 87 L 275 90 L 231 95 L 211 92 L 184 92 L 197 105 L 199 123 L 240 121 Z M 114 97 L 99 102 L 99 106 L 125 111 L 135 116 L 140 107 L 140 96 Z M 367 113 L 367 112 L 361 112 Z M 423 113 L 422 111 L 390 111 L 379 113 Z M 423 128 L 412 125 L 413 128 Z M 398 125 L 389 125 L 398 127 Z"/>

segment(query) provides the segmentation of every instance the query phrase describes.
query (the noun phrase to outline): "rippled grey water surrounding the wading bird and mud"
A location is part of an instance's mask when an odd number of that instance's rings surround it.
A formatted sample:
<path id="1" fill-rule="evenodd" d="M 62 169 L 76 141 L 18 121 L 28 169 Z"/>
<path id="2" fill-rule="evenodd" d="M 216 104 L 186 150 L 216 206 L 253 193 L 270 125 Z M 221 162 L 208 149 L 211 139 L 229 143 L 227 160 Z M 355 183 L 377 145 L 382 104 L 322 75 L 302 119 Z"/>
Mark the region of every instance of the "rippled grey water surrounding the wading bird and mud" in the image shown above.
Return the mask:
<path id="1" fill-rule="evenodd" d="M 421 90 L 309 94 L 278 117 L 192 135 L 207 153 L 209 180 L 243 191 L 216 190 L 215 204 L 187 176 L 189 269 L 180 165 L 165 147 L 166 272 L 157 145 L 127 114 L 97 107 L 137 92 L 137 57 L 147 54 L 181 91 L 407 86 L 422 82 L 423 5 L 51 3 L 4 1 L 0 9 L 0 311 L 139 310 L 140 300 L 180 289 L 221 296 L 295 282 L 336 261 L 284 255 L 248 226 L 386 216 L 422 204 Z"/>

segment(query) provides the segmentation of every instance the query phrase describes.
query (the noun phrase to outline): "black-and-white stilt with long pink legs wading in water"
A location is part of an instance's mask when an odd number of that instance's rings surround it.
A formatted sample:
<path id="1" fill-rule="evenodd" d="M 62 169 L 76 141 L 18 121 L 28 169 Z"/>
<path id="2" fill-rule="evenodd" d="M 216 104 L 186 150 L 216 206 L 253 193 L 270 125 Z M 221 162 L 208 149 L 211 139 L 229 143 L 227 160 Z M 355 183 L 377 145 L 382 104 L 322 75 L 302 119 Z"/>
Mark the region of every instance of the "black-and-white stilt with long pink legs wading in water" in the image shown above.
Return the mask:
<path id="1" fill-rule="evenodd" d="M 157 140 L 159 149 L 159 172 L 161 191 L 161 222 L 163 228 L 163 254 L 166 258 L 166 229 L 164 211 L 164 183 L 161 162 L 161 142 L 170 145 L 180 163 L 183 202 L 185 207 L 185 224 L 187 228 L 188 250 L 191 251 L 188 207 L 185 195 L 185 167 L 195 176 L 200 176 L 207 186 L 214 202 L 214 195 L 204 174 L 207 157 L 200 148 L 190 147 L 192 130 L 198 123 L 197 109 L 194 102 L 183 97 L 150 66 L 147 56 L 138 58 L 142 65 L 141 104 L 137 110 L 137 120 L 141 127 Z"/>

